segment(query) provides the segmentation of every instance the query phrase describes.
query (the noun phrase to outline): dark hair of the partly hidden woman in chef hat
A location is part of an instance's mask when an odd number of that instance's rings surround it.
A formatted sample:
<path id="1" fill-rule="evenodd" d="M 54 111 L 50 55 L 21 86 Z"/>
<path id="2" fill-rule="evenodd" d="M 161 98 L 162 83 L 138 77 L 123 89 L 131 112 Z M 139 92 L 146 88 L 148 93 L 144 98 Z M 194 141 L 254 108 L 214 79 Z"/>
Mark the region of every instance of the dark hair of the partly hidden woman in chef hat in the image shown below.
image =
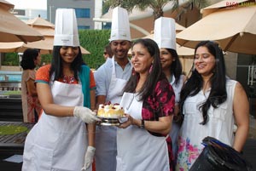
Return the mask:
<path id="1" fill-rule="evenodd" d="M 175 60 L 172 61 L 172 65 L 170 66 L 170 71 L 175 77 L 175 84 L 178 84 L 179 77 L 182 75 L 183 67 L 181 65 L 181 62 L 178 58 L 177 51 L 172 48 L 166 48 L 166 50 L 172 54 L 172 58 Z"/>

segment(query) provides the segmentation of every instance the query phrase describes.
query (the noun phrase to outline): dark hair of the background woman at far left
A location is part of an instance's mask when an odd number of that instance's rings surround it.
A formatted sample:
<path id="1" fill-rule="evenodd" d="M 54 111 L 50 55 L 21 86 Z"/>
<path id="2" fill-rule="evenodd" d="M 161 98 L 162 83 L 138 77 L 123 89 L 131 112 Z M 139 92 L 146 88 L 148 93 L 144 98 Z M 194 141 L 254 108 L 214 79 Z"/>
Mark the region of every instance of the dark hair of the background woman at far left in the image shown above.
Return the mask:
<path id="1" fill-rule="evenodd" d="M 36 68 L 34 60 L 37 60 L 39 50 L 35 48 L 26 48 L 20 61 L 23 70 L 33 70 Z"/>

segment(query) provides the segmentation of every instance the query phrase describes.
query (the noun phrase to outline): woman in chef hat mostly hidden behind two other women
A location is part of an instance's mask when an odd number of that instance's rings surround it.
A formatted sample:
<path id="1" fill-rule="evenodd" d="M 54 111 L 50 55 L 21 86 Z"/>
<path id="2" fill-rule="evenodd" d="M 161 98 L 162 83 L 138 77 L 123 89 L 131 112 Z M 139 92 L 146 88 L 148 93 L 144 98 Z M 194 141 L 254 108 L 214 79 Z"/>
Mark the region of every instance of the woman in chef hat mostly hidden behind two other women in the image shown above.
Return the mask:
<path id="1" fill-rule="evenodd" d="M 154 41 L 160 48 L 160 60 L 163 72 L 172 85 L 175 93 L 174 119 L 170 136 L 172 139 L 172 152 L 174 159 L 177 156 L 177 135 L 180 129 L 180 122 L 177 122 L 179 114 L 178 102 L 180 92 L 186 77 L 182 74 L 182 65 L 176 51 L 176 29 L 175 20 L 167 17 L 160 17 L 154 21 Z"/>

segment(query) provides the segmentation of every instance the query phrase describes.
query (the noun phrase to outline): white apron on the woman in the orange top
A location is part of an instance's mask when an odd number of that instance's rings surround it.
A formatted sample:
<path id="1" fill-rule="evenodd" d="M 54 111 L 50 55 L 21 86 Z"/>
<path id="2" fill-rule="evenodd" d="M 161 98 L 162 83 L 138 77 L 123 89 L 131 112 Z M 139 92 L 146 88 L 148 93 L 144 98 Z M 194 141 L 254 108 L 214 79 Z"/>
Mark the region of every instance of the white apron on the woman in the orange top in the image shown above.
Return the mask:
<path id="1" fill-rule="evenodd" d="M 55 81 L 51 93 L 58 105 L 75 106 L 84 102 L 81 84 Z M 22 170 L 81 170 L 87 149 L 85 128 L 79 117 L 54 117 L 43 112 L 26 137 Z"/>

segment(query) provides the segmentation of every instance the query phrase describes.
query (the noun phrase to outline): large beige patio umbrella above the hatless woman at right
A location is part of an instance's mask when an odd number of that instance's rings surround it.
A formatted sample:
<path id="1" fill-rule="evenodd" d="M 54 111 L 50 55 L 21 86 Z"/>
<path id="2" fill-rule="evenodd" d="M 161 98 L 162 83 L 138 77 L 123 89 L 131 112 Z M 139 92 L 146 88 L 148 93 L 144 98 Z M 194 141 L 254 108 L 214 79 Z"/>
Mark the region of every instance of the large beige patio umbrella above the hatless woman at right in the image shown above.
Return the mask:
<path id="1" fill-rule="evenodd" d="M 216 8 L 177 33 L 177 43 L 185 47 L 195 48 L 202 40 L 218 41 L 224 51 L 256 54 L 256 5 Z"/>

